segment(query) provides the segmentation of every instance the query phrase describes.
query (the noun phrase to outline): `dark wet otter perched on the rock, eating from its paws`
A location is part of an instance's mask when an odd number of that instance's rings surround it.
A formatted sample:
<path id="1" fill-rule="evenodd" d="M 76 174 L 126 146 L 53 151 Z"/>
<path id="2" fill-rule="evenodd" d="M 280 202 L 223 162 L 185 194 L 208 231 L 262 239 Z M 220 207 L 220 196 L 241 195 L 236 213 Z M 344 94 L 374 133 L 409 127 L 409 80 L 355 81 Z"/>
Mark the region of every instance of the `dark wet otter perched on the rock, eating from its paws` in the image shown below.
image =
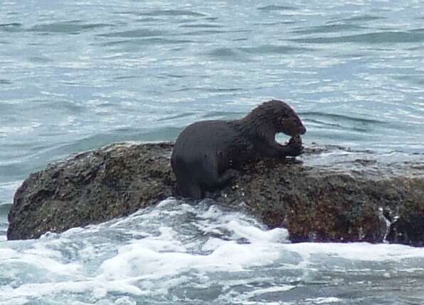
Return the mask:
<path id="1" fill-rule="evenodd" d="M 235 121 L 193 123 L 176 139 L 171 166 L 177 193 L 201 199 L 205 192 L 224 187 L 249 160 L 296 157 L 303 153 L 299 135 L 306 132 L 297 113 L 284 101 L 267 101 Z M 276 133 L 292 138 L 287 145 Z"/>

